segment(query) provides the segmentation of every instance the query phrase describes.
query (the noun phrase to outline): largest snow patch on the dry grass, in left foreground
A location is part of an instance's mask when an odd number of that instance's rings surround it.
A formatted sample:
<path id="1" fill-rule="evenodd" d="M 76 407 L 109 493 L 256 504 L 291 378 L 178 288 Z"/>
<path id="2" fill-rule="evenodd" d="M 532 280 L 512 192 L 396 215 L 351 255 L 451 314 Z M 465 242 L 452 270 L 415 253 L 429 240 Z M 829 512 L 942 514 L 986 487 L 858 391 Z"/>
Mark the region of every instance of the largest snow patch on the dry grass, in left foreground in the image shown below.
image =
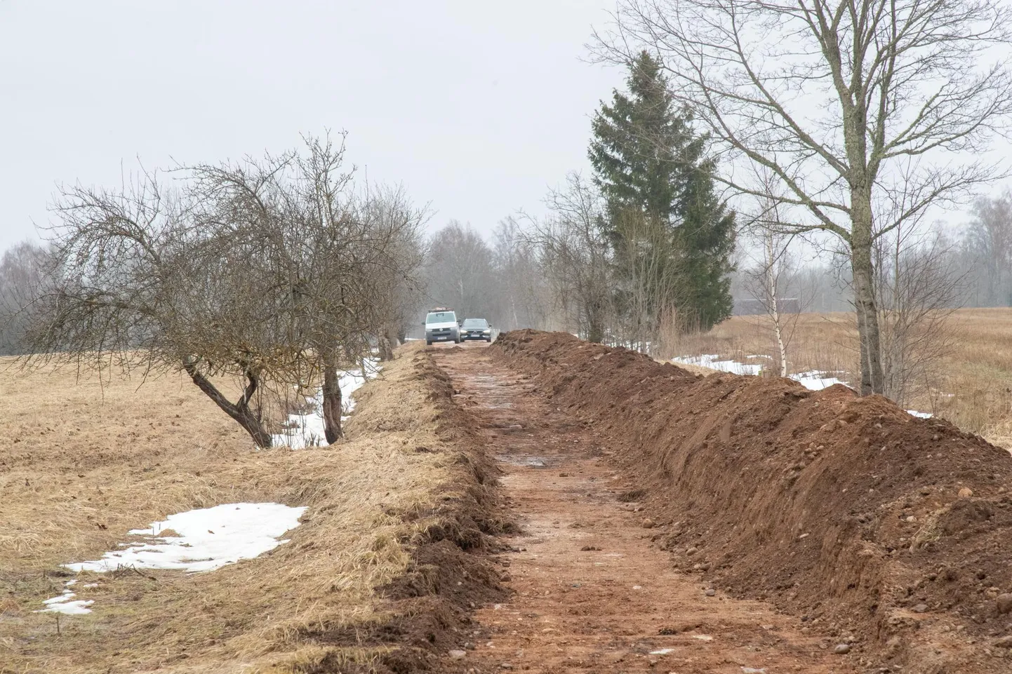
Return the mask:
<path id="1" fill-rule="evenodd" d="M 213 571 L 287 542 L 278 538 L 299 526 L 305 512 L 305 506 L 292 508 L 279 503 L 226 503 L 188 510 L 153 522 L 150 529 L 130 531 L 149 536 L 150 542 L 106 553 L 101 560 L 64 566 L 77 572 L 99 573 L 118 567 Z M 157 536 L 162 529 L 172 529 L 179 535 Z"/>

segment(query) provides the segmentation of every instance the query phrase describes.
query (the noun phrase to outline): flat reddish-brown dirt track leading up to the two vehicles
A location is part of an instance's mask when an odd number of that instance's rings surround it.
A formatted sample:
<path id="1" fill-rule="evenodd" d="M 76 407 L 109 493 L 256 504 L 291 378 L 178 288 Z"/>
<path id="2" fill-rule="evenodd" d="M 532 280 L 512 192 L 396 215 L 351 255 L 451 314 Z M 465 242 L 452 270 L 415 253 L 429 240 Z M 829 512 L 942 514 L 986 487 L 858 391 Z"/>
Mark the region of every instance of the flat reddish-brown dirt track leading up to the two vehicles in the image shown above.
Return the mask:
<path id="1" fill-rule="evenodd" d="M 853 654 L 793 616 L 672 568 L 592 423 L 567 415 L 484 345 L 437 348 L 479 420 L 522 527 L 500 556 L 512 597 L 476 615 L 475 672 L 849 673 Z M 770 560 L 771 565 L 776 560 Z M 455 654 L 459 657 L 459 653 Z"/>

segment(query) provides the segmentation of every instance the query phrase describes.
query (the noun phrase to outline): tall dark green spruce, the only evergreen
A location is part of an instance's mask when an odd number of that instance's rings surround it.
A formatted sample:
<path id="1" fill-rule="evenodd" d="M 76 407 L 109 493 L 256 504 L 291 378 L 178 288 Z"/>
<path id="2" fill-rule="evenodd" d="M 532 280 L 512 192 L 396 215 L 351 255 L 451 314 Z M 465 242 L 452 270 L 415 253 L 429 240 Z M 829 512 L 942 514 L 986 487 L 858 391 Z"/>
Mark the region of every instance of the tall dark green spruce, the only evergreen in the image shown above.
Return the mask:
<path id="1" fill-rule="evenodd" d="M 708 329 L 733 306 L 727 276 L 734 213 L 714 194 L 706 139 L 694 132 L 691 113 L 676 106 L 660 63 L 641 53 L 626 86 L 627 94 L 615 91 L 610 105 L 601 103 L 589 151 L 608 204 L 619 277 L 647 284 L 619 294 L 651 298 L 645 306 L 655 321 L 674 308 Z M 618 304 L 629 306 L 625 300 Z"/>

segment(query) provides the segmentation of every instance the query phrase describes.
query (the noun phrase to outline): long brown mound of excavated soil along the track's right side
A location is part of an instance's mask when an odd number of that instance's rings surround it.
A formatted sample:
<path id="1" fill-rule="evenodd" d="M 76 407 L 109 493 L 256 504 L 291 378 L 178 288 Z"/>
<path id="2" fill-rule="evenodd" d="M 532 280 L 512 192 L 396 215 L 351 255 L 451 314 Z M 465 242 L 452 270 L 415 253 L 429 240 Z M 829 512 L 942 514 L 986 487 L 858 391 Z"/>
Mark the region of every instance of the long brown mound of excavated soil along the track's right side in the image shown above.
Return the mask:
<path id="1" fill-rule="evenodd" d="M 841 386 L 701 377 L 562 333 L 492 349 L 610 445 L 679 568 L 905 672 L 1005 671 L 1007 451 Z"/>

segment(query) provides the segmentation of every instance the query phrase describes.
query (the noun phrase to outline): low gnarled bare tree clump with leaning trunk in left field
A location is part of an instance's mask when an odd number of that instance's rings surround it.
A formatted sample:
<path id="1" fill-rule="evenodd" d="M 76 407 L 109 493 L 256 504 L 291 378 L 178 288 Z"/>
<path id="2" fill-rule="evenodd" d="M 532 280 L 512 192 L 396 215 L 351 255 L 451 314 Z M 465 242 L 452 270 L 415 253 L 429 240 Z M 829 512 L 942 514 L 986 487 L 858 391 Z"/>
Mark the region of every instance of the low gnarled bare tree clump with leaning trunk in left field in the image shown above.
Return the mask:
<path id="1" fill-rule="evenodd" d="M 308 138 L 302 152 L 180 169 L 168 193 L 155 173 L 64 189 L 27 362 L 185 371 L 264 447 L 265 392 L 322 380 L 335 441 L 339 370 L 371 353 L 420 223 L 400 192 L 356 199 L 342 165 L 343 144 Z M 221 376 L 238 380 L 235 402 Z"/>

